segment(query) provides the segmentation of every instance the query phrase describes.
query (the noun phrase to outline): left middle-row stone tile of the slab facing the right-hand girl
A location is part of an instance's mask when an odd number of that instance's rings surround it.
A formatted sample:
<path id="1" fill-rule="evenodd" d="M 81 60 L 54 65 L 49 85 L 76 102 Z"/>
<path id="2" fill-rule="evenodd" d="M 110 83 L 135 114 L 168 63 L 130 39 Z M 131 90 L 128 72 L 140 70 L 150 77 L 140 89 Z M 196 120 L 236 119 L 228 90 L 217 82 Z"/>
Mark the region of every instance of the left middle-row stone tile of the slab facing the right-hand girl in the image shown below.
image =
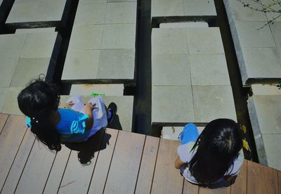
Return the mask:
<path id="1" fill-rule="evenodd" d="M 187 54 L 152 56 L 153 85 L 191 85 Z"/>

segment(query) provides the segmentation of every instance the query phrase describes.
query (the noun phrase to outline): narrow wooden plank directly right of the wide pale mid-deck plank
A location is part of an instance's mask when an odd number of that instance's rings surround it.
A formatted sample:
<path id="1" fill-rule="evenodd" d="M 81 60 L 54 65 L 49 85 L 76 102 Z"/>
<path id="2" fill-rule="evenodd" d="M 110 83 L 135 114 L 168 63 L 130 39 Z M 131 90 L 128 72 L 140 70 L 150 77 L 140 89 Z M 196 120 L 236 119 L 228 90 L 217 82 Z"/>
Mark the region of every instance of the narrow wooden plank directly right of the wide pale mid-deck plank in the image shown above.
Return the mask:
<path id="1" fill-rule="evenodd" d="M 150 193 L 159 138 L 146 136 L 145 147 L 143 149 L 143 157 L 141 159 L 141 167 L 138 172 L 138 181 L 136 183 L 135 193 Z"/>

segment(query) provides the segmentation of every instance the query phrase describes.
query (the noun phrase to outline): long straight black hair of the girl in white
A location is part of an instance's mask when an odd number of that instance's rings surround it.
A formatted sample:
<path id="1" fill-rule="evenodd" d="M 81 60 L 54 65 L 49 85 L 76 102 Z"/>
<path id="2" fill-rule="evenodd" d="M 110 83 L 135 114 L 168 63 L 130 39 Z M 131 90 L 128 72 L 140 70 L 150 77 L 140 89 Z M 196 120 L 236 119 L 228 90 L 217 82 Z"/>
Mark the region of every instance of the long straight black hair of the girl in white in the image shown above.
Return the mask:
<path id="1" fill-rule="evenodd" d="M 242 148 L 239 126 L 231 119 L 215 119 L 202 131 L 189 162 L 192 176 L 200 183 L 214 183 L 228 171 Z"/>

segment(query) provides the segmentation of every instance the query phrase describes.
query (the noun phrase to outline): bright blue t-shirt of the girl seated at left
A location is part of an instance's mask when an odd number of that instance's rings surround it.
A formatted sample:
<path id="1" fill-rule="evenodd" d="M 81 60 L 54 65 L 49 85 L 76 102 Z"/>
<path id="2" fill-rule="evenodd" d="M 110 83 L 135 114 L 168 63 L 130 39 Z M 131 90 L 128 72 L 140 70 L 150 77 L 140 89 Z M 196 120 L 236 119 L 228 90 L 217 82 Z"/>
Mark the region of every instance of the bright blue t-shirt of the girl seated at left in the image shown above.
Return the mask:
<path id="1" fill-rule="evenodd" d="M 79 142 L 85 141 L 91 132 L 86 130 L 86 119 L 89 115 L 81 112 L 75 112 L 70 109 L 58 109 L 60 122 L 56 125 L 62 142 Z M 27 127 L 31 127 L 30 117 L 27 117 Z"/>

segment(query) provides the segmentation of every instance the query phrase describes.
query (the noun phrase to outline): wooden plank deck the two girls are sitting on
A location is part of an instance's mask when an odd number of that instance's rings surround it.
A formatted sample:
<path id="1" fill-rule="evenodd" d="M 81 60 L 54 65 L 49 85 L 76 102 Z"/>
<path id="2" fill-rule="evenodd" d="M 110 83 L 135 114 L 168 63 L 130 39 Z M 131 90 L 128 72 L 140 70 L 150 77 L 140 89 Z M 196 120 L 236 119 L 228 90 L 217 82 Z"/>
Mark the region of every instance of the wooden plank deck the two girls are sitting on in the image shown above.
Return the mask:
<path id="1" fill-rule="evenodd" d="M 245 160 L 235 183 L 202 188 L 174 168 L 177 141 L 106 129 L 81 148 L 51 153 L 25 127 L 0 114 L 1 193 L 280 193 L 281 172 Z M 81 165 L 87 162 L 88 165 Z"/>

